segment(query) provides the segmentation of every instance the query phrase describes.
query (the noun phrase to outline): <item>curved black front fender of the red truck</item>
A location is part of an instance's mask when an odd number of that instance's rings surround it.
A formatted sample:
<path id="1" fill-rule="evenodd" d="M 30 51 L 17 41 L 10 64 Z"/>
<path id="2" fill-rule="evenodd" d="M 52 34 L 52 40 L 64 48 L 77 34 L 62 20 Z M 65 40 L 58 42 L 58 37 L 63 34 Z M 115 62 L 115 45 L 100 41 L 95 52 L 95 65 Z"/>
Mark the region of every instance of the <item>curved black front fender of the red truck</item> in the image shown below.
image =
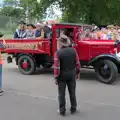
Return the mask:
<path id="1" fill-rule="evenodd" d="M 90 60 L 88 62 L 88 64 L 89 65 L 93 65 L 96 62 L 98 62 L 99 60 L 111 60 L 115 64 L 120 64 L 120 58 L 117 57 L 115 54 L 101 54 L 101 55 L 95 57 L 94 59 Z"/>

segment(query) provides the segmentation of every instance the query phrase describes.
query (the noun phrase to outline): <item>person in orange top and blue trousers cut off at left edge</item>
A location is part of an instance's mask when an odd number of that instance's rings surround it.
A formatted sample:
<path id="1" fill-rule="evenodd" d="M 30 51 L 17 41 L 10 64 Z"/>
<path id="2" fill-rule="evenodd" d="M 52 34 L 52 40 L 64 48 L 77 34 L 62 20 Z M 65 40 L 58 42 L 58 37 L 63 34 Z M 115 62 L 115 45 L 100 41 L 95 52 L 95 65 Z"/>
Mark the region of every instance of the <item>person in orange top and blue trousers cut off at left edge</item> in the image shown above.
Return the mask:
<path id="1" fill-rule="evenodd" d="M 0 33 L 0 39 L 2 39 L 4 35 Z M 1 55 L 1 50 L 5 49 L 5 41 L 3 40 L 3 43 L 0 43 L 0 96 L 3 95 L 3 90 L 2 90 L 2 55 Z"/>

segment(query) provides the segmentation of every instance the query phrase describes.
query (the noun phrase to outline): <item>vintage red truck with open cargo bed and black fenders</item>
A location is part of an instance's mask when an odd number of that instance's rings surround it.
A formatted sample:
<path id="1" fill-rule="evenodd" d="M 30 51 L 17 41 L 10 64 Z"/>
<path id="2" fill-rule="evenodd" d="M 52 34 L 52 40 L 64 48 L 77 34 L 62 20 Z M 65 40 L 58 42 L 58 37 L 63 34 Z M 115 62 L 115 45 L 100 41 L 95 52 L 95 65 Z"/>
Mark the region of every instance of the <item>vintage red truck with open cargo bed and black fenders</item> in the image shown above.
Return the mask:
<path id="1" fill-rule="evenodd" d="M 9 39 L 6 40 L 4 52 L 13 56 L 8 56 L 8 62 L 12 62 L 12 59 L 15 58 L 16 65 L 22 74 L 33 74 L 40 66 L 45 68 L 53 66 L 54 53 L 57 50 L 56 38 L 60 36 L 61 31 L 68 30 L 72 33 L 72 46 L 78 52 L 81 67 L 92 66 L 99 81 L 111 84 L 120 73 L 119 41 L 80 39 L 78 33 L 87 27 L 91 26 L 68 23 L 54 24 L 51 38 L 43 40 Z"/>

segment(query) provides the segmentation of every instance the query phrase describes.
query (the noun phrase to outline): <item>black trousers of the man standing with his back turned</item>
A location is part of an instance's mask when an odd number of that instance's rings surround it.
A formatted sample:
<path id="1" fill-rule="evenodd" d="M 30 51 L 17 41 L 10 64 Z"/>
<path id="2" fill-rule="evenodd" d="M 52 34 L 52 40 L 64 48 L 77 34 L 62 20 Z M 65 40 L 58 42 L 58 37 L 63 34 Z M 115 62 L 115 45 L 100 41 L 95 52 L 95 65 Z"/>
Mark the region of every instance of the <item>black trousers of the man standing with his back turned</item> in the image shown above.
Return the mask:
<path id="1" fill-rule="evenodd" d="M 76 92 L 76 80 L 75 80 L 75 76 L 74 76 L 71 78 L 71 80 L 59 81 L 58 94 L 59 94 L 60 112 L 66 111 L 66 100 L 65 100 L 66 86 L 68 87 L 68 92 L 69 92 L 69 96 L 70 96 L 71 111 L 76 110 L 76 107 L 77 107 L 76 94 L 75 94 L 75 92 Z"/>

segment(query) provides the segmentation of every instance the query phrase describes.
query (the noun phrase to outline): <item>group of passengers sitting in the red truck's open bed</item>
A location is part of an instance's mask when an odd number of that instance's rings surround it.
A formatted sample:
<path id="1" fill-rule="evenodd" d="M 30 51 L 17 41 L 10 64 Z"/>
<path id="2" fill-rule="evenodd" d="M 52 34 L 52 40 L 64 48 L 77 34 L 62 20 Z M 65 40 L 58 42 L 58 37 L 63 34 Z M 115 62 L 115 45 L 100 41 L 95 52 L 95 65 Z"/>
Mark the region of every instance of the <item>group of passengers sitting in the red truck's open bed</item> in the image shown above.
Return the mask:
<path id="1" fill-rule="evenodd" d="M 18 27 L 14 33 L 14 39 L 49 38 L 51 33 L 51 27 L 48 25 L 48 22 L 33 25 L 20 21 Z"/>

